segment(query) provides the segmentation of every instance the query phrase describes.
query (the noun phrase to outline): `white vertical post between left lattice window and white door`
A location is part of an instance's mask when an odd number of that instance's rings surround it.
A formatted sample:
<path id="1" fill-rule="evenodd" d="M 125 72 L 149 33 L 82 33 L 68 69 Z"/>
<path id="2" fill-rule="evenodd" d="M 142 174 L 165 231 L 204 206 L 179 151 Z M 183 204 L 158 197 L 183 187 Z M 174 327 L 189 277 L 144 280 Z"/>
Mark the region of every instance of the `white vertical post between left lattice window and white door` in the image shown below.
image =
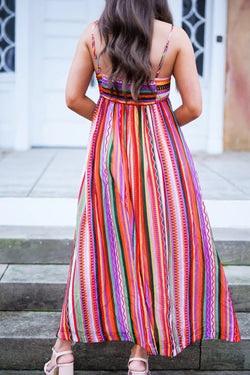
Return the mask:
<path id="1" fill-rule="evenodd" d="M 16 0 L 16 131 L 14 148 L 29 148 L 29 33 L 30 3 Z"/>

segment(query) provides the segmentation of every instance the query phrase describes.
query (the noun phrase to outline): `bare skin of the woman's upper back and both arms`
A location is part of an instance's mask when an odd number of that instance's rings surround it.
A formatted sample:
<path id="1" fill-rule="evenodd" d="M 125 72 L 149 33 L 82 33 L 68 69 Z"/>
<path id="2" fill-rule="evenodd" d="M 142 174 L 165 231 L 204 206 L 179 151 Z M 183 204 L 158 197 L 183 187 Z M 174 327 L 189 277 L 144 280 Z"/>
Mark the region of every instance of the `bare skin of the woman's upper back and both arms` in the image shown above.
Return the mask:
<path id="1" fill-rule="evenodd" d="M 90 120 L 93 117 L 95 103 L 85 94 L 93 71 L 98 72 L 95 55 L 99 58 L 104 47 L 104 44 L 101 45 L 98 28 L 93 28 L 94 24 L 94 22 L 89 24 L 79 39 L 66 86 L 67 105 Z M 171 40 L 167 44 L 170 34 Z M 94 36 L 96 53 L 93 53 L 92 36 Z M 164 53 L 166 45 L 167 52 Z M 163 60 L 162 56 L 164 56 Z M 199 116 L 202 110 L 202 95 L 194 50 L 186 32 L 178 26 L 174 26 L 171 32 L 170 23 L 155 20 L 149 58 L 152 65 L 152 79 L 155 79 L 159 66 L 161 67 L 159 78 L 169 79 L 171 75 L 175 78 L 182 99 L 182 105 L 175 110 L 178 123 L 184 125 Z M 111 67 L 108 55 L 103 54 L 99 61 L 99 71 L 109 76 Z"/>

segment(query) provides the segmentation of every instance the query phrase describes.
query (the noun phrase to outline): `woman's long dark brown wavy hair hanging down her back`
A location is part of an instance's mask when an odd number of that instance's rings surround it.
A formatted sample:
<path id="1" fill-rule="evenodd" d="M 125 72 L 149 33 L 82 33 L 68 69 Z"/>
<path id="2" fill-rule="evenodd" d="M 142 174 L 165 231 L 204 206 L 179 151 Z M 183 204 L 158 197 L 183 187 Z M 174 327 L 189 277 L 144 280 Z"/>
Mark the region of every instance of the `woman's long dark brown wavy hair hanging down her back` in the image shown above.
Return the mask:
<path id="1" fill-rule="evenodd" d="M 130 82 L 134 100 L 142 85 L 151 80 L 149 53 L 154 19 L 173 23 L 167 0 L 106 0 L 98 22 L 105 41 L 100 56 L 107 52 L 112 63 L 109 87 L 117 90 L 117 79 L 123 75 L 124 95 Z"/>

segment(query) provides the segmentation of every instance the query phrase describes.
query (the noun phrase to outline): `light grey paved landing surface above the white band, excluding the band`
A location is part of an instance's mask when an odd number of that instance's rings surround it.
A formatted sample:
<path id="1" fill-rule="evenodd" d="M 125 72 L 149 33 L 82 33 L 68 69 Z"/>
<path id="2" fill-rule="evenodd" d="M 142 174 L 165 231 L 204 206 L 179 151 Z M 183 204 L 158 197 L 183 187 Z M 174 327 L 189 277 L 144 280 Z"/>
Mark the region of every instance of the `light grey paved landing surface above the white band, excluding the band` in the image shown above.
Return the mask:
<path id="1" fill-rule="evenodd" d="M 250 199 L 250 152 L 192 153 L 204 199 Z M 75 198 L 85 149 L 0 151 L 0 197 Z"/>

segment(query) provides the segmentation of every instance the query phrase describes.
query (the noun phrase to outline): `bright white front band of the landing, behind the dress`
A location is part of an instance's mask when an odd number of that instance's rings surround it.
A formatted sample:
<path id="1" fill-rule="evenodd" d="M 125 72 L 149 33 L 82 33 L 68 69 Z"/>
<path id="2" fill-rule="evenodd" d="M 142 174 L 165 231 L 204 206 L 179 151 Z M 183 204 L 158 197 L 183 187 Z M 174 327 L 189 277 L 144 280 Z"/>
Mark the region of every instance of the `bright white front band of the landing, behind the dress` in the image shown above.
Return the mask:
<path id="1" fill-rule="evenodd" d="M 214 228 L 250 228 L 250 200 L 204 200 Z M 63 215 L 62 215 L 63 212 Z M 76 198 L 0 198 L 0 226 L 74 227 Z"/>

